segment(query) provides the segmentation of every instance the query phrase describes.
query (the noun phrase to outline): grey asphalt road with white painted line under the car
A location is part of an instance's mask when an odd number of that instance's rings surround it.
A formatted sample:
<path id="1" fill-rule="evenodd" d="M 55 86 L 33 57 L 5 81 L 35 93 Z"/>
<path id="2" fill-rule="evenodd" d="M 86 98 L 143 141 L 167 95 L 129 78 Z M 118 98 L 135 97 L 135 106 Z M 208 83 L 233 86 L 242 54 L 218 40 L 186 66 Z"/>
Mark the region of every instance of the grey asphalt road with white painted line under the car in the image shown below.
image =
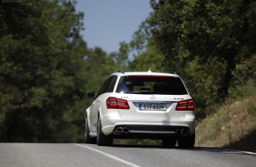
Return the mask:
<path id="1" fill-rule="evenodd" d="M 256 154 L 231 149 L 0 143 L 1 167 L 256 166 Z"/>

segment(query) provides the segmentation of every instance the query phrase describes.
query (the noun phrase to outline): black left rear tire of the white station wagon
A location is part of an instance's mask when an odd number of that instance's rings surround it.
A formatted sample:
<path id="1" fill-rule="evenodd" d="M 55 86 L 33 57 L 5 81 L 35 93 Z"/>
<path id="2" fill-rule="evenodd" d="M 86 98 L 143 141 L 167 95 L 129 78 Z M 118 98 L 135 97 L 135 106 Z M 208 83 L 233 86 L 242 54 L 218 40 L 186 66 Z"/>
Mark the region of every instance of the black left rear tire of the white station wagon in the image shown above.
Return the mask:
<path id="1" fill-rule="evenodd" d="M 98 146 L 112 146 L 113 137 L 102 133 L 102 122 L 98 119 L 97 123 L 97 144 Z"/>

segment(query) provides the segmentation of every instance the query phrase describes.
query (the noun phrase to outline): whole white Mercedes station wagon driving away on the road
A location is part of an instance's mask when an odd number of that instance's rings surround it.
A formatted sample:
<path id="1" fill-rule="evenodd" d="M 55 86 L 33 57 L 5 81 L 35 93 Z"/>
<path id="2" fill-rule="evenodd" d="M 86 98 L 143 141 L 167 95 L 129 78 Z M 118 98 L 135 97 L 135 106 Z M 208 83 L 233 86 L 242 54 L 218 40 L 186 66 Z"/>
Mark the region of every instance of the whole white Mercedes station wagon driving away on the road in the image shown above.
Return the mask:
<path id="1" fill-rule="evenodd" d="M 193 148 L 195 112 L 192 97 L 177 74 L 111 74 L 93 98 L 85 118 L 85 142 L 112 145 L 118 139 L 160 139 L 164 147 Z"/>

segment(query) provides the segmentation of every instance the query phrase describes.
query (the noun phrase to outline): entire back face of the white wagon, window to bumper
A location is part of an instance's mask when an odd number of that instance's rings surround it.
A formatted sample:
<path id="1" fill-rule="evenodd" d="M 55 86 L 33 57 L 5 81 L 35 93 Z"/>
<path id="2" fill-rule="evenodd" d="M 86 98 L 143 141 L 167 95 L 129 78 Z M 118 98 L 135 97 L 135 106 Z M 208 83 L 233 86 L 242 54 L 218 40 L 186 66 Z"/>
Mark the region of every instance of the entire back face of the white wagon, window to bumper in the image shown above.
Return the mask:
<path id="1" fill-rule="evenodd" d="M 165 73 L 124 73 L 102 131 L 116 138 L 162 139 L 194 134 L 194 103 L 181 78 Z"/>

